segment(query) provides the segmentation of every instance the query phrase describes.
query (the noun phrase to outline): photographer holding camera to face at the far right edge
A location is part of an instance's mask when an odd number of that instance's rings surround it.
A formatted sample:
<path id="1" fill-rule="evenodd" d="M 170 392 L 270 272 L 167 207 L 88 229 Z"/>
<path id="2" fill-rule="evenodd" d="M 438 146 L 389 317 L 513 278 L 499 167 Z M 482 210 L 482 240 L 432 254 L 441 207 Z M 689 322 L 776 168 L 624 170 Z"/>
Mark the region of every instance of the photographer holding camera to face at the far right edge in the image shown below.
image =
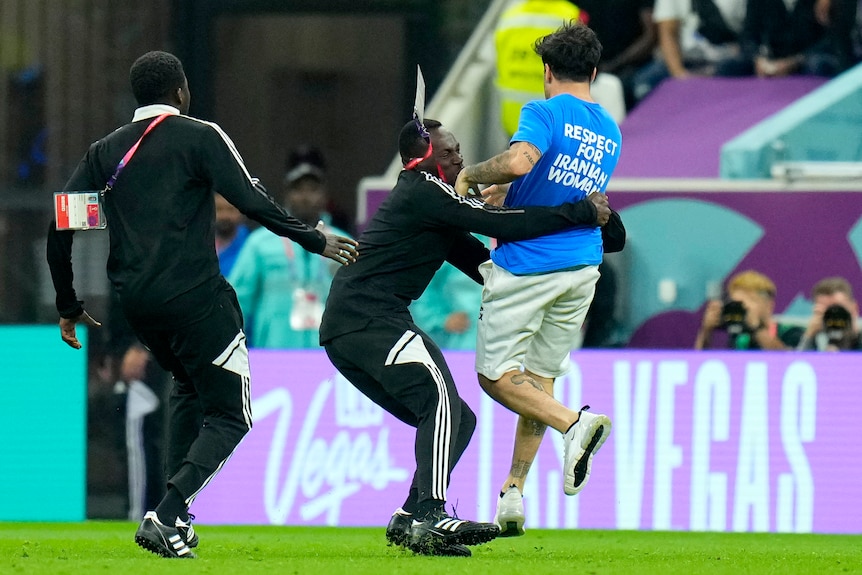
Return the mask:
<path id="1" fill-rule="evenodd" d="M 802 351 L 862 350 L 859 304 L 850 282 L 842 277 L 824 278 L 811 290 L 814 309 L 797 349 Z"/>

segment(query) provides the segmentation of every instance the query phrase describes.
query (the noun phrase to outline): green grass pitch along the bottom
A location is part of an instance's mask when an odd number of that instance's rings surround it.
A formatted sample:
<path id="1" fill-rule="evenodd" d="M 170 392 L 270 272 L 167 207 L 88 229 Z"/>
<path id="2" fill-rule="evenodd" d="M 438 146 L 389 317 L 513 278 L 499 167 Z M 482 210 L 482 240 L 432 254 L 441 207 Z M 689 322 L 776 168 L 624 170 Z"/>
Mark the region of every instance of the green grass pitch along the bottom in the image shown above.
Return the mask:
<path id="1" fill-rule="evenodd" d="M 473 557 L 422 557 L 389 547 L 383 528 L 196 526 L 198 559 L 162 559 L 126 522 L 0 523 L 0 573 L 576 575 L 862 573 L 862 536 L 531 529 L 473 547 Z"/>

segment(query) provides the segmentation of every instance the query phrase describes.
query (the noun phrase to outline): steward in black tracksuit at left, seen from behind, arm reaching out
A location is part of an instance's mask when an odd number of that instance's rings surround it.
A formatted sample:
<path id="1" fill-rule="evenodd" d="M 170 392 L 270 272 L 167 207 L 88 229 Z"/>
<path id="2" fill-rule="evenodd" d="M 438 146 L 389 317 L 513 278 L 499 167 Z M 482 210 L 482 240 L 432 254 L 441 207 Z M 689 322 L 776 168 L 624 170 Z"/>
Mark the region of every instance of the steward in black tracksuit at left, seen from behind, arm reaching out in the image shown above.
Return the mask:
<path id="1" fill-rule="evenodd" d="M 136 534 L 165 557 L 194 557 L 198 538 L 188 506 L 251 429 L 250 372 L 243 318 L 215 251 L 218 192 L 253 220 L 304 249 L 341 264 L 356 242 L 324 234 L 287 214 L 249 175 L 218 125 L 186 115 L 190 94 L 182 64 L 148 52 L 131 67 L 140 106 L 131 123 L 92 144 L 65 186 L 102 190 L 120 159 L 154 118 L 104 194 L 110 253 L 107 273 L 123 314 L 159 364 L 173 374 L 165 471 L 168 490 Z M 63 341 L 80 349 L 75 326 L 99 326 L 72 285 L 72 231 L 48 231 L 47 256 Z M 85 232 L 95 233 L 95 232 Z"/>

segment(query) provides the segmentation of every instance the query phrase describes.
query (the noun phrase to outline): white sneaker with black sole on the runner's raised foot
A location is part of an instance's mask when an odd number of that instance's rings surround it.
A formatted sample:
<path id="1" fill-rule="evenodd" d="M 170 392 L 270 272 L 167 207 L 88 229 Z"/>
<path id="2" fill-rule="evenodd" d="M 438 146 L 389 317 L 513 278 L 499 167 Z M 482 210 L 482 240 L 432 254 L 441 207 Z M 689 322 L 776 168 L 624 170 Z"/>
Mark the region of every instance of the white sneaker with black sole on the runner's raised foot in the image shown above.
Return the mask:
<path id="1" fill-rule="evenodd" d="M 611 434 L 608 416 L 587 413 L 589 408 L 589 405 L 581 408 L 578 421 L 563 436 L 563 490 L 566 495 L 575 495 L 587 484 L 593 454 Z"/>

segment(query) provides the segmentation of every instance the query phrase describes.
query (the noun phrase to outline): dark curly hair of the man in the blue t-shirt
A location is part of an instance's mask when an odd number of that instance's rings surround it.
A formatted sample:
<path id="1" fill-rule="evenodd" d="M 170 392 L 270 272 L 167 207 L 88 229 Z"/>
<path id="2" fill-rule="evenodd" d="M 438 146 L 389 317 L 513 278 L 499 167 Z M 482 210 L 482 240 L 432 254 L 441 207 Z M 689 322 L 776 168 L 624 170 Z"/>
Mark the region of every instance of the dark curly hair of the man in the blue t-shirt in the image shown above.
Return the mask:
<path id="1" fill-rule="evenodd" d="M 533 49 L 555 78 L 574 82 L 592 80 L 593 70 L 602 55 L 602 44 L 596 33 L 576 20 L 539 38 Z"/>

